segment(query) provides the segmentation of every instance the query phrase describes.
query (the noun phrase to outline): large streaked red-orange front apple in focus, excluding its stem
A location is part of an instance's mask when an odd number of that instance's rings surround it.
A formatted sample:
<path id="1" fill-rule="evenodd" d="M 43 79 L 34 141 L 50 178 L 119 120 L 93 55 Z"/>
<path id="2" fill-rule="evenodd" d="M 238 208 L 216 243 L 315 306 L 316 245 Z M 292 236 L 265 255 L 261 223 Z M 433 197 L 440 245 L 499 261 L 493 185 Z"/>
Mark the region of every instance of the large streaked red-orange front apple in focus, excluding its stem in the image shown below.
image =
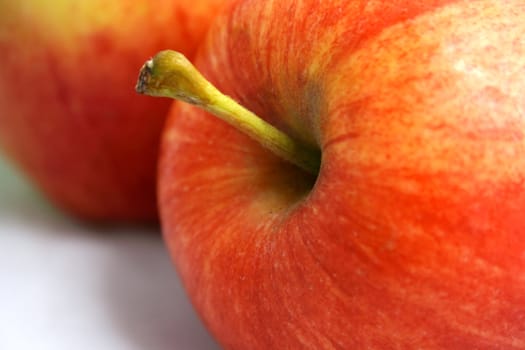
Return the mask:
<path id="1" fill-rule="evenodd" d="M 521 0 L 248 0 L 214 23 L 197 67 L 323 155 L 314 180 L 174 106 L 163 231 L 225 348 L 525 349 L 524 33 Z"/>

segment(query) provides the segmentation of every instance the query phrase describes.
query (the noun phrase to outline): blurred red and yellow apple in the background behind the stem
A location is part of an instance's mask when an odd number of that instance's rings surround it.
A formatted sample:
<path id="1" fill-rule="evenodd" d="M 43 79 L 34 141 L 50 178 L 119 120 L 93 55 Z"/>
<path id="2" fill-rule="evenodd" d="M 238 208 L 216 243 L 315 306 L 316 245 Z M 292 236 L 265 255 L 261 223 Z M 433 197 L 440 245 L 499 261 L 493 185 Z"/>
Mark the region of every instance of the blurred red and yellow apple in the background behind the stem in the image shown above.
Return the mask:
<path id="1" fill-rule="evenodd" d="M 225 0 L 2 1 L 0 145 L 60 207 L 157 221 L 169 100 L 138 96 L 144 57 L 192 57 Z"/>

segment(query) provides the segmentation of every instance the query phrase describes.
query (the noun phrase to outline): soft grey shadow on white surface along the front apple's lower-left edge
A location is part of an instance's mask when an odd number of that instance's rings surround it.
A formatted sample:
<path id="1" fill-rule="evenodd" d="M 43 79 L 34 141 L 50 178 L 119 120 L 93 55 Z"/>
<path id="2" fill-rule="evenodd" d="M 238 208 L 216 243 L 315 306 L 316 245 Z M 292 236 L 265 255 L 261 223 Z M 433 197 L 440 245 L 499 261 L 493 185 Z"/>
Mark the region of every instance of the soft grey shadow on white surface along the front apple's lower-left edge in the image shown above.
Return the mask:
<path id="1" fill-rule="evenodd" d="M 218 349 L 188 302 L 159 237 L 127 237 L 113 247 L 102 285 L 107 308 L 134 349 Z"/>

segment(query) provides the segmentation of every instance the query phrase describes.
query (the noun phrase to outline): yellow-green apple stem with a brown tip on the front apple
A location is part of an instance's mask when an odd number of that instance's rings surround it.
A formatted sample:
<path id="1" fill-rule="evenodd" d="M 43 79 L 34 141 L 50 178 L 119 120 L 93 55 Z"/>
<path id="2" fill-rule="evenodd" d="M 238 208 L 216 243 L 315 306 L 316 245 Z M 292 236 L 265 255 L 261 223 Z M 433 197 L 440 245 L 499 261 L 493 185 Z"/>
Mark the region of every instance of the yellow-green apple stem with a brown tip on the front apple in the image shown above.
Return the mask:
<path id="1" fill-rule="evenodd" d="M 258 141 L 277 156 L 317 175 L 320 152 L 300 144 L 213 86 L 183 54 L 165 50 L 140 70 L 140 94 L 170 97 L 200 107 Z"/>

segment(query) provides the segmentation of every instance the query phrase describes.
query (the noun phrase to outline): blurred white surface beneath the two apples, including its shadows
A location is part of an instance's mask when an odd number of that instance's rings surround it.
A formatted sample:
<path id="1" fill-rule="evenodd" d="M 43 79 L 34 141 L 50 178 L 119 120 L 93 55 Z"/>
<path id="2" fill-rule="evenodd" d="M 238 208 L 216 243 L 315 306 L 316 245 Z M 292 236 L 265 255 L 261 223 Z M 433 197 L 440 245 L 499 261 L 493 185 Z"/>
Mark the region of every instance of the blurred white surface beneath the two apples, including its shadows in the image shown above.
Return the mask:
<path id="1" fill-rule="evenodd" d="M 0 156 L 0 349 L 217 350 L 157 231 L 82 226 Z"/>

